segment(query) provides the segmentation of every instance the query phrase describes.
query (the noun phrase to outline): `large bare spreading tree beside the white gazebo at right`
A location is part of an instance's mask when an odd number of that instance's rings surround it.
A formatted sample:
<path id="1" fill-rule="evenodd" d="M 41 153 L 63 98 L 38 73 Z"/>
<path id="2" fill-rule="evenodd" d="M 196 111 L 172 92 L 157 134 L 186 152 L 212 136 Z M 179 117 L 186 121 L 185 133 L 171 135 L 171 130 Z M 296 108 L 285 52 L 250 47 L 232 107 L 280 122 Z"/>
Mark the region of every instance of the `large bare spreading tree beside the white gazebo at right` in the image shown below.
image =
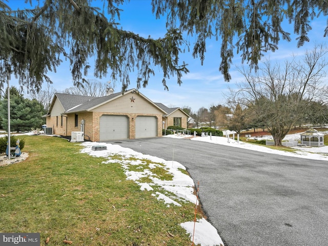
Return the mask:
<path id="1" fill-rule="evenodd" d="M 232 91 L 230 101 L 247 105 L 280 146 L 295 124 L 306 121 L 311 103 L 326 95 L 323 78 L 327 53 L 327 47 L 316 45 L 301 59 L 294 57 L 281 65 L 266 61 L 255 73 L 240 70 L 245 81 Z"/>

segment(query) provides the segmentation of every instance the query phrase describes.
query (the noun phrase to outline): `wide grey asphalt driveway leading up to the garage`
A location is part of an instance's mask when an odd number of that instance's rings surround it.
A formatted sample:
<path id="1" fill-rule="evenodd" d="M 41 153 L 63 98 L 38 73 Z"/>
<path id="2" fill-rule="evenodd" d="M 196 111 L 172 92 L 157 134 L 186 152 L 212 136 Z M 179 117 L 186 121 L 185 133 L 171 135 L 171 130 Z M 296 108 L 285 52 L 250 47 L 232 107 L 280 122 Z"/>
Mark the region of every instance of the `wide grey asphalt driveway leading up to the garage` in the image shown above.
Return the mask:
<path id="1" fill-rule="evenodd" d="M 174 138 L 108 141 L 180 162 L 224 245 L 328 245 L 328 161 Z"/>

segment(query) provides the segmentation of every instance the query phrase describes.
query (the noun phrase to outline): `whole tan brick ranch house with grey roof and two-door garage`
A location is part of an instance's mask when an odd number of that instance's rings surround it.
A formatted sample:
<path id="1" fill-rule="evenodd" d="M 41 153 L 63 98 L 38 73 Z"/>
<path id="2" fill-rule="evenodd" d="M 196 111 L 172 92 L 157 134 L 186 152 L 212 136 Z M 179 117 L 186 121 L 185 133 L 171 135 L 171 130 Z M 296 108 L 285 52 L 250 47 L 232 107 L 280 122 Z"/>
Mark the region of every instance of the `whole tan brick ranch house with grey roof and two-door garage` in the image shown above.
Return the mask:
<path id="1" fill-rule="evenodd" d="M 84 139 L 106 141 L 161 137 L 168 126 L 187 128 L 189 115 L 180 108 L 153 103 L 136 89 L 103 97 L 55 93 L 46 115 L 47 128 L 61 136 L 84 132 Z"/>

